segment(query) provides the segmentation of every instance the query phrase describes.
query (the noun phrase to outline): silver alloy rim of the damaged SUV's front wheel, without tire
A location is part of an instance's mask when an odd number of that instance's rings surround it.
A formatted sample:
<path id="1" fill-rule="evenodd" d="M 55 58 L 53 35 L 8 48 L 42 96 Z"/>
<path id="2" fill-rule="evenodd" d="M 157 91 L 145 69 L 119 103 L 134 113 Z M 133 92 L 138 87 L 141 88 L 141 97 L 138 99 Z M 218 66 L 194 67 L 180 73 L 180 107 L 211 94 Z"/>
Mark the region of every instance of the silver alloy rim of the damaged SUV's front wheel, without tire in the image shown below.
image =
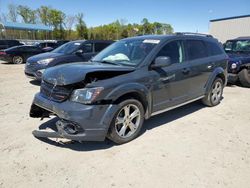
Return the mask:
<path id="1" fill-rule="evenodd" d="M 138 129 L 141 121 L 141 112 L 134 104 L 124 106 L 115 120 L 116 133 L 122 138 L 128 138 Z"/>

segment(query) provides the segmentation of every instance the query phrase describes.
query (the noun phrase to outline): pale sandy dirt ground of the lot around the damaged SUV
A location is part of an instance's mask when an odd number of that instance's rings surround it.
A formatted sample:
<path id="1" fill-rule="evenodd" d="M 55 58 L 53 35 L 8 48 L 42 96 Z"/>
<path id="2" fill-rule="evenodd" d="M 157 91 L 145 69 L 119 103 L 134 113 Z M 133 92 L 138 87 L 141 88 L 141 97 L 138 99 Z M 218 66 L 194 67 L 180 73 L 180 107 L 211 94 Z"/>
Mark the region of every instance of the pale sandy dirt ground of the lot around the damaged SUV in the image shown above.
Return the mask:
<path id="1" fill-rule="evenodd" d="M 249 187 L 250 89 L 155 116 L 125 145 L 57 143 L 31 134 L 48 119 L 29 117 L 39 86 L 23 70 L 0 63 L 0 187 Z"/>

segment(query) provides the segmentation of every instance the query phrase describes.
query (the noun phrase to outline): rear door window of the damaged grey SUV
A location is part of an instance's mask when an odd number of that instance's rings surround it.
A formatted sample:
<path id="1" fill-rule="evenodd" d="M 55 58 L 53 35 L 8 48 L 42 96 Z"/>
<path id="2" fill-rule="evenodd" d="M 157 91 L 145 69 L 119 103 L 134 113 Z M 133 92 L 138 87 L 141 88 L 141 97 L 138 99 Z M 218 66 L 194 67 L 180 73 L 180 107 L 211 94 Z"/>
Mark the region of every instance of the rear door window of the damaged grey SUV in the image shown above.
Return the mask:
<path id="1" fill-rule="evenodd" d="M 187 40 L 186 48 L 189 60 L 200 59 L 208 56 L 207 47 L 201 40 Z"/>

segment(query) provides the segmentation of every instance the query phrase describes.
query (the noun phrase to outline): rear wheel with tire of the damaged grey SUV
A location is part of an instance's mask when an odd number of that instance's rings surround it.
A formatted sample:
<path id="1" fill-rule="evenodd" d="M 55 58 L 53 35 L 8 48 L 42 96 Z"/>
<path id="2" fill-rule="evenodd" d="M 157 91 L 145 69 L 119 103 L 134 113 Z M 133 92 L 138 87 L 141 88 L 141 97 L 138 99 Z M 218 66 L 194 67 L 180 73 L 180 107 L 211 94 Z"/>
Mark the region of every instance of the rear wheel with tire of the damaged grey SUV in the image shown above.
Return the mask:
<path id="1" fill-rule="evenodd" d="M 216 90 L 218 86 L 221 87 L 220 91 L 219 89 L 218 91 Z M 223 89 L 224 89 L 224 84 L 223 84 L 222 79 L 216 78 L 211 88 L 209 89 L 208 93 L 202 99 L 202 103 L 210 107 L 220 104 L 220 101 L 222 99 Z"/>

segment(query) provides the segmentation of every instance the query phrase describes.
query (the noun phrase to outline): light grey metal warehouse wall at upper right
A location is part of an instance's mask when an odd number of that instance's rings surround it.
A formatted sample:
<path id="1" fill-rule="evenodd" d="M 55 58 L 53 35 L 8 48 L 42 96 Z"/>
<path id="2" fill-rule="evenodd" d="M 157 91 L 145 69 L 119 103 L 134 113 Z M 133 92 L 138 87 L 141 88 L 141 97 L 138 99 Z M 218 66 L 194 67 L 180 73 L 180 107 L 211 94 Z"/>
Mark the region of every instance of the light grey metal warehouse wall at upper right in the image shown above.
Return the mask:
<path id="1" fill-rule="evenodd" d="M 209 33 L 222 43 L 228 39 L 250 36 L 250 17 L 210 21 Z"/>

